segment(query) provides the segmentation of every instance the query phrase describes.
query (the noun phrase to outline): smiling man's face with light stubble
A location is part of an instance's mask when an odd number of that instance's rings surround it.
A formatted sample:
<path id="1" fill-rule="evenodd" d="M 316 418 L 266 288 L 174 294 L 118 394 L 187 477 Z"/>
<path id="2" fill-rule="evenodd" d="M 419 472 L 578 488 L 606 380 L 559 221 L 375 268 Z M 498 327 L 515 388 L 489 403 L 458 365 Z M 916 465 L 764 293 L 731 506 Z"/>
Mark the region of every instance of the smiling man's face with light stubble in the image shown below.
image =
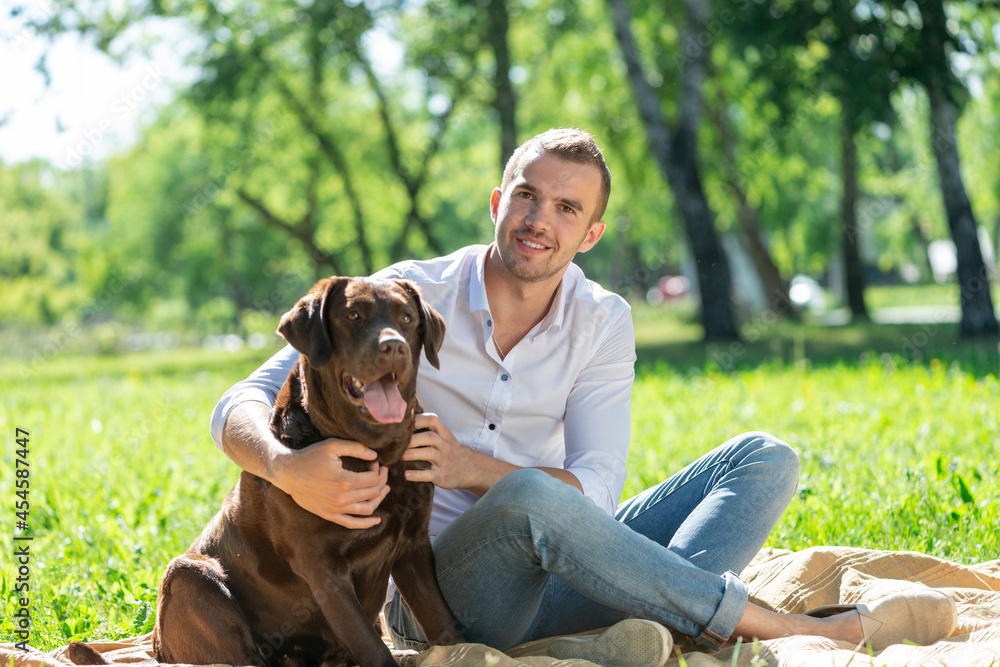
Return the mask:
<path id="1" fill-rule="evenodd" d="M 506 191 L 495 189 L 497 252 L 511 275 L 526 282 L 561 277 L 577 252 L 590 250 L 605 227 L 591 224 L 600 190 L 597 167 L 547 154 L 525 161 Z"/>

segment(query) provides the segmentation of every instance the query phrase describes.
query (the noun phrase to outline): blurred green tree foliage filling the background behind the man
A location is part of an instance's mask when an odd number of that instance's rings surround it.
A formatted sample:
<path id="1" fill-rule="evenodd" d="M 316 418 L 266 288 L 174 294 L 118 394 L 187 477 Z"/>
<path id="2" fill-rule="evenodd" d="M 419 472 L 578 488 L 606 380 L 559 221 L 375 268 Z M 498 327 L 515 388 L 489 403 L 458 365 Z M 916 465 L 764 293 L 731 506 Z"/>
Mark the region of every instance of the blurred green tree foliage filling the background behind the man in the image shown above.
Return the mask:
<path id="1" fill-rule="evenodd" d="M 695 42 L 682 43 L 681 7 L 631 5 L 668 115 L 690 50 L 710 49 L 711 122 L 699 137 L 707 197 L 720 230 L 740 236 L 740 185 L 786 279 L 824 274 L 837 253 L 841 94 L 874 106 L 881 92 L 857 77 L 900 74 L 891 109 L 858 115 L 860 233 L 870 265 L 892 274 L 913 264 L 926 278 L 914 230 L 926 241 L 948 228 L 925 95 L 907 83 L 912 7 L 853 3 L 853 14 L 834 16 L 825 1 L 718 1 Z M 613 172 L 609 229 L 579 263 L 617 291 L 644 293 L 688 253 L 606 3 L 505 6 L 518 139 L 554 125 L 595 134 Z M 956 49 L 968 52 L 955 66 L 971 91 L 963 177 L 997 236 L 1000 148 L 983 140 L 997 132 L 996 17 L 966 2 L 947 9 Z M 126 27 L 162 17 L 206 46 L 192 55 L 194 85 L 156 111 L 136 145 L 69 170 L 0 165 L 0 327 L 100 328 L 93 347 L 109 351 L 135 330 L 247 334 L 254 314 L 283 312 L 321 275 L 491 239 L 500 156 L 484 3 L 178 0 L 105 11 L 59 0 L 40 30 L 81 32 L 114 51 Z"/>

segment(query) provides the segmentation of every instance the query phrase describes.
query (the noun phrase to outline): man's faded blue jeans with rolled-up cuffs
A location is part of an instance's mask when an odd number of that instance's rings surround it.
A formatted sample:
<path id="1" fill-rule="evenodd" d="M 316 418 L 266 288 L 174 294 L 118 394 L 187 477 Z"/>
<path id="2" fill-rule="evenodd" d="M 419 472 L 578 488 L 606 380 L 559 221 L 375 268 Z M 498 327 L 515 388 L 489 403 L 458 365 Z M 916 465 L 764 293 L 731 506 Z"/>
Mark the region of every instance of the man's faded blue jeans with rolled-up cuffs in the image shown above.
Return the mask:
<path id="1" fill-rule="evenodd" d="M 765 433 L 717 447 L 610 517 L 534 469 L 501 479 L 434 540 L 437 577 L 465 638 L 499 649 L 636 616 L 721 646 L 743 617 L 740 572 L 798 484 L 798 457 Z M 397 648 L 426 647 L 397 592 Z"/>

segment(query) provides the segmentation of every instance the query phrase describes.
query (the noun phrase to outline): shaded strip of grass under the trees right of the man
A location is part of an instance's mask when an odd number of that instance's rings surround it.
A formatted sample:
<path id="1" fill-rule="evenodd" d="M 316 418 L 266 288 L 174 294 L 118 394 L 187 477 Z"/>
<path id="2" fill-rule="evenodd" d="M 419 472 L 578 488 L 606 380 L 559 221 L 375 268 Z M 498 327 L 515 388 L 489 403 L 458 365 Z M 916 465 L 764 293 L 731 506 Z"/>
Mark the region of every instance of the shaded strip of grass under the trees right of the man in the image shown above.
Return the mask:
<path id="1" fill-rule="evenodd" d="M 678 319 L 679 318 L 679 319 Z M 673 320 L 673 321 L 670 321 Z M 761 365 L 866 366 L 888 364 L 955 365 L 976 377 L 1000 375 L 996 338 L 966 341 L 957 323 L 848 324 L 824 326 L 791 321 L 744 327 L 740 342 L 704 342 L 701 328 L 683 314 L 639 313 L 636 354 L 639 366 L 665 363 L 730 372 Z"/>

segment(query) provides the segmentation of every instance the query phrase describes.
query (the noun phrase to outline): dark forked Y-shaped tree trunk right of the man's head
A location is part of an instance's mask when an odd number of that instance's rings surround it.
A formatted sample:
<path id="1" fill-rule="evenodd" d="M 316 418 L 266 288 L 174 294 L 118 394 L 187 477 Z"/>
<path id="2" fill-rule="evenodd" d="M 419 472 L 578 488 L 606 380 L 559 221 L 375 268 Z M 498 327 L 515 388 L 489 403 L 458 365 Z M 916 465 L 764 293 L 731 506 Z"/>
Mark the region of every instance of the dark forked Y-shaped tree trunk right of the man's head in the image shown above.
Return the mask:
<path id="1" fill-rule="evenodd" d="M 697 129 L 702 106 L 702 84 L 708 61 L 708 48 L 691 42 L 681 72 L 681 97 L 678 103 L 677 128 L 671 130 L 663 116 L 660 99 L 646 79 L 639 52 L 632 35 L 631 14 L 627 0 L 608 0 L 615 37 L 622 50 L 629 82 L 635 94 L 646 136 L 661 172 L 670 184 L 674 200 L 684 220 L 691 254 L 694 256 L 701 293 L 701 318 L 706 340 L 739 340 L 730 297 L 729 264 L 715 230 L 715 216 L 705 198 L 698 165 Z M 708 3 L 685 2 L 685 35 L 693 36 L 705 24 Z"/>

